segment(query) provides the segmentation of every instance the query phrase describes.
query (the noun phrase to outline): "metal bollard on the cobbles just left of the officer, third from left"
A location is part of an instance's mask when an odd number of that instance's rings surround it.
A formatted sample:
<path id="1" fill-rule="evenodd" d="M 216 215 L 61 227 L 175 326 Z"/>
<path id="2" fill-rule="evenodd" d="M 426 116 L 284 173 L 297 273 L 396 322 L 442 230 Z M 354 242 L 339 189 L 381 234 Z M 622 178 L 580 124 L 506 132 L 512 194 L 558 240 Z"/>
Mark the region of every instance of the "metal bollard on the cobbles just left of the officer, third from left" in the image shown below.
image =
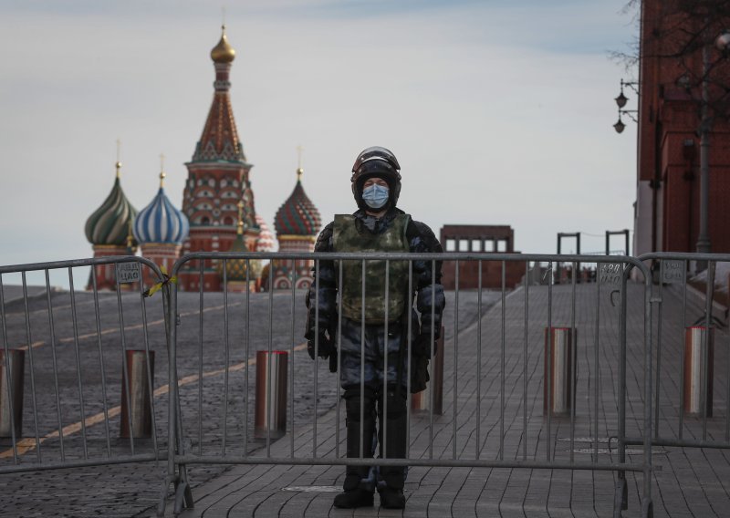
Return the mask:
<path id="1" fill-rule="evenodd" d="M 288 356 L 287 351 L 271 351 L 271 355 L 268 351 L 256 351 L 254 437 L 257 439 L 266 439 L 267 430 L 271 439 L 287 433 Z"/>

